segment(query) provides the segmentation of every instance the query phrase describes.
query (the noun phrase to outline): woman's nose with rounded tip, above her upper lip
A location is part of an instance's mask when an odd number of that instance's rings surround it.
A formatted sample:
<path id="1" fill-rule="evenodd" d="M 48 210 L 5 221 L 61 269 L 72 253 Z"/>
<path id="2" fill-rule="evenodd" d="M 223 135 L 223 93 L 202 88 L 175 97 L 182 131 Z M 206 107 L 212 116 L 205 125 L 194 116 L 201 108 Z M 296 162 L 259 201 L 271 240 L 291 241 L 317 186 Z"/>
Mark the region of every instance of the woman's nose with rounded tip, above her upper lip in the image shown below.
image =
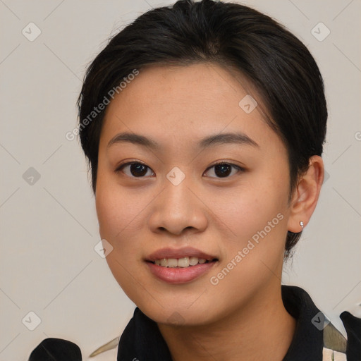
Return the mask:
<path id="1" fill-rule="evenodd" d="M 152 202 L 149 228 L 154 233 L 197 233 L 207 228 L 207 206 L 202 195 L 187 177 L 181 184 L 166 182 L 165 188 Z"/>

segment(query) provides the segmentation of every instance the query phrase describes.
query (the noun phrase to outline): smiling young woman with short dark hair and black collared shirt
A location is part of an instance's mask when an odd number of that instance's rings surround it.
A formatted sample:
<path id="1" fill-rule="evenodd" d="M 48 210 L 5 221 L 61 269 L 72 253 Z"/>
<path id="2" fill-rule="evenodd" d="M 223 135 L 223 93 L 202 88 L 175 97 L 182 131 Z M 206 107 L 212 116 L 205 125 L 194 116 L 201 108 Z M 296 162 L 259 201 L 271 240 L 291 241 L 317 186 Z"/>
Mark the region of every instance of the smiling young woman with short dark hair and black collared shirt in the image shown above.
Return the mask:
<path id="1" fill-rule="evenodd" d="M 322 75 L 295 36 L 239 4 L 154 8 L 78 106 L 106 260 L 137 305 L 117 360 L 360 360 L 360 319 L 341 314 L 346 341 L 281 286 L 324 179 Z"/>

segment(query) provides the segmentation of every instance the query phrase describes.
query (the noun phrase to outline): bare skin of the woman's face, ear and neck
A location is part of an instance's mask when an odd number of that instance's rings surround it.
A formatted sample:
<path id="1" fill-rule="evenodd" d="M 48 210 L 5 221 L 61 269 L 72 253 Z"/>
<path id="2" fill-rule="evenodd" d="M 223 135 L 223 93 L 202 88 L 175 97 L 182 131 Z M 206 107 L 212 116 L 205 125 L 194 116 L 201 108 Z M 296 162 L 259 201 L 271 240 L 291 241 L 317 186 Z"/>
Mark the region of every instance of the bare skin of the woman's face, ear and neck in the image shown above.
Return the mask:
<path id="1" fill-rule="evenodd" d="M 152 66 L 106 109 L 96 188 L 100 235 L 113 247 L 106 259 L 128 297 L 157 322 L 174 361 L 282 360 L 293 338 L 295 320 L 281 300 L 284 245 L 287 231 L 300 232 L 300 221 L 306 226 L 316 207 L 323 164 L 310 159 L 289 200 L 286 148 L 262 118 L 257 93 L 259 106 L 250 114 L 238 106 L 247 94 L 243 85 L 214 64 Z M 121 132 L 152 138 L 160 148 L 109 146 Z M 197 147 L 203 137 L 231 132 L 257 146 Z M 126 161 L 146 164 L 145 176 L 134 176 L 130 166 L 116 172 Z M 243 171 L 219 177 L 216 161 Z M 185 175 L 179 185 L 166 178 L 175 166 Z M 267 235 L 212 284 L 264 229 Z M 189 283 L 169 284 L 150 273 L 150 253 L 188 246 L 219 261 Z"/>

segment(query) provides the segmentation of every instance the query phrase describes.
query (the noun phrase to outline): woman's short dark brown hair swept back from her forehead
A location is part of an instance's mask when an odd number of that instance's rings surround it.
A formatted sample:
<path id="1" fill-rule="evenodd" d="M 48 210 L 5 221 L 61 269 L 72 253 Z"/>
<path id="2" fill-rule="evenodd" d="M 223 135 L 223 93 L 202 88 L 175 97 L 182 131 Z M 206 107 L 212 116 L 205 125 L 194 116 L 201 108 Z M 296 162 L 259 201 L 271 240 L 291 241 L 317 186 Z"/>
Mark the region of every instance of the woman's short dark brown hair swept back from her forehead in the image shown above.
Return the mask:
<path id="1" fill-rule="evenodd" d="M 87 68 L 78 98 L 79 133 L 94 192 L 105 111 L 90 120 L 94 106 L 135 69 L 202 62 L 235 68 L 255 86 L 269 114 L 267 123 L 288 150 L 290 192 L 294 190 L 310 157 L 322 154 L 326 135 L 324 83 L 310 51 L 285 27 L 247 6 L 181 0 L 139 16 Z M 288 231 L 286 257 L 300 234 Z"/>

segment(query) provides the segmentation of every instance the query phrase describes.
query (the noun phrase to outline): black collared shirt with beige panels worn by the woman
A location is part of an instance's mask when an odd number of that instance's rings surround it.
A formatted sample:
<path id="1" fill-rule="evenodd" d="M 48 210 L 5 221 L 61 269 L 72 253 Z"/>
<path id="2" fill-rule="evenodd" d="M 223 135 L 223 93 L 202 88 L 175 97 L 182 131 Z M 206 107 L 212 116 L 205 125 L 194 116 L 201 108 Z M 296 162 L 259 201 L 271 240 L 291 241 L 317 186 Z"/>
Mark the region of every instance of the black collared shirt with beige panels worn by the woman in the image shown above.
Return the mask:
<path id="1" fill-rule="evenodd" d="M 341 314 L 346 342 L 334 326 L 325 326 L 322 312 L 305 290 L 295 286 L 282 286 L 281 290 L 286 310 L 296 319 L 295 334 L 283 361 L 336 361 L 346 360 L 345 355 L 347 361 L 361 361 L 361 319 L 349 312 Z M 332 350 L 336 352 L 333 354 Z M 118 350 L 114 351 L 117 351 L 117 361 L 172 361 L 157 323 L 139 308 L 135 309 Z M 81 361 L 82 355 L 75 343 L 47 338 L 32 351 L 29 361 L 49 360 Z"/>

